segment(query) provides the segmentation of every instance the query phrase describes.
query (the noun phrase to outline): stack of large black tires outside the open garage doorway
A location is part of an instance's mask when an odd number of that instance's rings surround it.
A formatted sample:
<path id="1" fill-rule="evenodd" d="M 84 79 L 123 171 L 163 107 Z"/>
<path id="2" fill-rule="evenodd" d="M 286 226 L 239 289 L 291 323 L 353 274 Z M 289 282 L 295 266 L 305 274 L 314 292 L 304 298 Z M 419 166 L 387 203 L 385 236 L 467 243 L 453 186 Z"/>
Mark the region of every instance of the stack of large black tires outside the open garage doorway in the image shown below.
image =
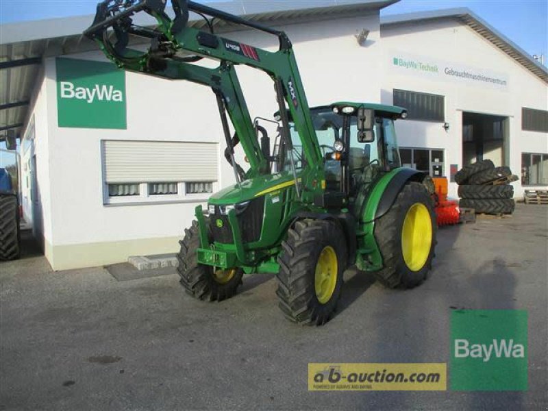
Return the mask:
<path id="1" fill-rule="evenodd" d="M 473 208 L 477 213 L 512 214 L 516 204 L 510 176 L 509 167 L 495 167 L 491 160 L 467 164 L 455 175 L 459 206 Z M 504 177 L 508 177 L 506 182 L 499 184 Z M 493 184 L 495 181 L 497 184 Z"/>

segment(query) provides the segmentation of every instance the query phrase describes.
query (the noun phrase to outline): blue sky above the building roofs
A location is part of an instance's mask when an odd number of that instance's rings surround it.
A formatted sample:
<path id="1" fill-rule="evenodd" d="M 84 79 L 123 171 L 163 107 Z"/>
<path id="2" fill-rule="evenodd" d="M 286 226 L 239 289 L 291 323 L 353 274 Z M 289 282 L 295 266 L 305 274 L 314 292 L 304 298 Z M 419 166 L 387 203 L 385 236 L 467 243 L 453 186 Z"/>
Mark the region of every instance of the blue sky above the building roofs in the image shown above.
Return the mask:
<path id="1" fill-rule="evenodd" d="M 96 5 L 97 0 L 0 0 L 0 24 L 95 14 Z M 543 53 L 548 59 L 548 0 L 401 0 L 381 14 L 456 7 L 469 8 L 527 53 Z"/>

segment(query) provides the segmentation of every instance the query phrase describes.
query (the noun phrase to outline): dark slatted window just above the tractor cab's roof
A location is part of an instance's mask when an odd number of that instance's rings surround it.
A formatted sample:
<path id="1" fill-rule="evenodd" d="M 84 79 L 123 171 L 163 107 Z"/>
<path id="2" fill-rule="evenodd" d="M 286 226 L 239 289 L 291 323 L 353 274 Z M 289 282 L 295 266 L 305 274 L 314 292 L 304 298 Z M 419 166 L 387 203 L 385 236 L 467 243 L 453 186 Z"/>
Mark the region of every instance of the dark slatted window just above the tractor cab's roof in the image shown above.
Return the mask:
<path id="1" fill-rule="evenodd" d="M 394 105 L 406 108 L 409 120 L 445 121 L 444 96 L 395 88 Z"/>

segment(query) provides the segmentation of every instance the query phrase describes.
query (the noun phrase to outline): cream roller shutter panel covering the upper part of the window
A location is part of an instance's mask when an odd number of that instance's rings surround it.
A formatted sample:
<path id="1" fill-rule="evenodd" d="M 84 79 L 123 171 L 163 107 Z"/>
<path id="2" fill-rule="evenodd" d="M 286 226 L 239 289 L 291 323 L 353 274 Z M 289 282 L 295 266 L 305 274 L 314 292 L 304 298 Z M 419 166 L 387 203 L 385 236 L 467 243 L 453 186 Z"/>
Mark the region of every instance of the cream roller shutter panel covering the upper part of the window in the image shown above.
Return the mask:
<path id="1" fill-rule="evenodd" d="M 103 140 L 106 183 L 216 182 L 217 143 Z"/>

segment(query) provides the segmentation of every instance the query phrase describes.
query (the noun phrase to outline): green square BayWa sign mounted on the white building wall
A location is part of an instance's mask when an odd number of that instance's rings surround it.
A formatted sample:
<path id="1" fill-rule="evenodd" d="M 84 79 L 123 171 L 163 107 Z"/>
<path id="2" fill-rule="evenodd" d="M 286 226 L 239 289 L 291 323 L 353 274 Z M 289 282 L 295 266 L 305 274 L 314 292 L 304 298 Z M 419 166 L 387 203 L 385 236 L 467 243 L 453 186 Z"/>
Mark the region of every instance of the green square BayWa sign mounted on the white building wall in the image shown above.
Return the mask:
<path id="1" fill-rule="evenodd" d="M 55 59 L 59 127 L 125 129 L 125 72 L 111 63 Z"/>

